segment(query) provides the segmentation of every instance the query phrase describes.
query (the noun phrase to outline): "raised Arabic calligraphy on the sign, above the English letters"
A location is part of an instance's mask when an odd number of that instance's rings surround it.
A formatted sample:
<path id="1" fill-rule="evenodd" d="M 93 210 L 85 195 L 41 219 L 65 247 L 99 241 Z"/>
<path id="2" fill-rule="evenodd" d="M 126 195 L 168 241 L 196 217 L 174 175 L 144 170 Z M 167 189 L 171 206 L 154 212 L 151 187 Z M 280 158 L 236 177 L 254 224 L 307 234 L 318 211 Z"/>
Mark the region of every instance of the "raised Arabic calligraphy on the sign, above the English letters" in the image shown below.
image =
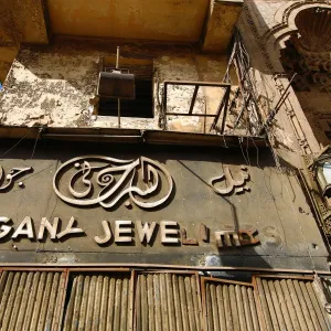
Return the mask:
<path id="1" fill-rule="evenodd" d="M 76 171 L 68 181 L 67 192 L 64 193 L 60 189 L 60 178 L 63 175 L 63 172 L 68 172 L 72 169 L 76 169 Z M 6 177 L 6 183 L 0 186 L 0 192 L 10 188 L 15 177 L 23 175 L 32 170 L 31 167 L 12 168 Z M 250 189 L 247 185 L 249 180 L 247 167 L 241 166 L 241 178 L 234 179 L 228 167 L 225 167 L 223 174 L 210 180 L 211 188 L 221 195 L 249 191 Z M 96 173 L 95 186 L 98 186 L 98 194 L 90 197 L 92 192 L 96 190 L 90 180 L 94 173 Z M 115 175 L 118 173 L 120 178 L 116 181 Z M 137 174 L 145 183 L 143 189 L 138 185 L 139 179 L 136 179 Z M 162 181 L 160 174 L 164 175 L 164 181 L 168 185 L 164 196 L 150 202 L 139 200 L 138 196 L 150 199 L 160 189 Z M 0 166 L 0 181 L 3 175 L 4 171 Z M 75 189 L 78 182 L 83 184 L 84 191 Z M 224 182 L 225 188 L 216 188 L 216 183 L 220 182 Z M 125 183 L 128 184 L 126 189 L 122 188 Z M 163 166 L 146 157 L 136 160 L 120 160 L 103 156 L 85 156 L 68 160 L 57 169 L 53 179 L 53 189 L 60 199 L 76 206 L 99 204 L 105 209 L 110 209 L 120 199 L 128 195 L 136 205 L 142 209 L 152 209 L 162 205 L 170 197 L 173 190 L 173 180 Z"/>

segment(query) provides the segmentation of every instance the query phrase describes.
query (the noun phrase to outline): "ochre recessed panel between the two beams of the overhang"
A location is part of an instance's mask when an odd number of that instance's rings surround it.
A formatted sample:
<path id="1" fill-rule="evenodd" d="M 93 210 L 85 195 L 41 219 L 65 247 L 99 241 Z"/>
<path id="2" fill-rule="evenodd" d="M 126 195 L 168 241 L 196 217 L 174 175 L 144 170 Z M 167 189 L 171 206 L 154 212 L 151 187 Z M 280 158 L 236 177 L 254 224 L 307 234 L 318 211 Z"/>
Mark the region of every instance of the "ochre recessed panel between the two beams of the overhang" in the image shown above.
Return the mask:
<path id="1" fill-rule="evenodd" d="M 54 33 L 199 41 L 209 0 L 49 0 Z"/>

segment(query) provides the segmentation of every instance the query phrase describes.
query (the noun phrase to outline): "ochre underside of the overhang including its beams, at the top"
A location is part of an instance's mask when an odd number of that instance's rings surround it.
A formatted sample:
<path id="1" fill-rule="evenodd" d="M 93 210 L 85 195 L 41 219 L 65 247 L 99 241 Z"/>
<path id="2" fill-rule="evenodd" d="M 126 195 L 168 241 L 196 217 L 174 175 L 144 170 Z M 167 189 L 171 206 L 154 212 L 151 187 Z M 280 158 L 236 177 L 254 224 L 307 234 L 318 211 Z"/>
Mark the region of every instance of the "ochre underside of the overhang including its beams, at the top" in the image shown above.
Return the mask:
<path id="1" fill-rule="evenodd" d="M 228 46 L 243 0 L 13 0 L 0 12 L 0 46 L 52 34 Z"/>

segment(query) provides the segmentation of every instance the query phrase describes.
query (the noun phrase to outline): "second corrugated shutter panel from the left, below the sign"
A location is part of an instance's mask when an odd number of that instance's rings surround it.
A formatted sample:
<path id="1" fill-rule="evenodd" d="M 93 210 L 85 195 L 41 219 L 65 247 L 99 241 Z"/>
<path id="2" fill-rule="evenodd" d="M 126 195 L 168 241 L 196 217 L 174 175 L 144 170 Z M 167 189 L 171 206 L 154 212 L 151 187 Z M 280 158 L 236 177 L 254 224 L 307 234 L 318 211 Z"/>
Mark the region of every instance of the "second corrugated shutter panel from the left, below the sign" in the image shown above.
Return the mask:
<path id="1" fill-rule="evenodd" d="M 77 274 L 71 281 L 64 330 L 131 330 L 130 273 Z"/>

